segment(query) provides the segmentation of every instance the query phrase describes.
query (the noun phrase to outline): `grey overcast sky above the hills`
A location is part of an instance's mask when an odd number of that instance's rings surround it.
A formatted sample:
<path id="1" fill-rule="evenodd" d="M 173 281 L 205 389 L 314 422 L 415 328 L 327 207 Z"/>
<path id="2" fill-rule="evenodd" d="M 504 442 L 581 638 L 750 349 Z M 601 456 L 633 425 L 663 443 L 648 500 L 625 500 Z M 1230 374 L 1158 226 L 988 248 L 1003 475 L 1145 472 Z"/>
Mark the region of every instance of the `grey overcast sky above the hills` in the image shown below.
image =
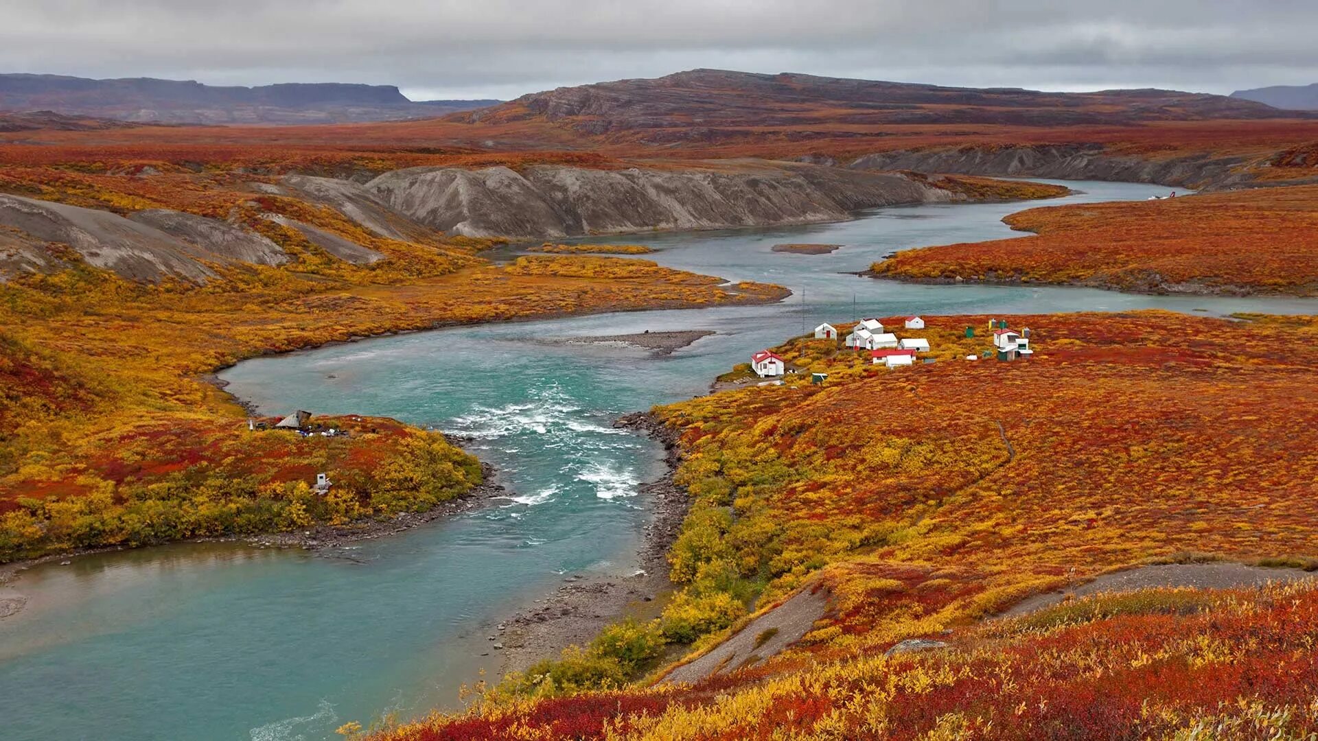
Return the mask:
<path id="1" fill-rule="evenodd" d="M 0 0 L 0 71 L 501 98 L 693 67 L 1231 92 L 1318 82 L 1315 0 Z"/>

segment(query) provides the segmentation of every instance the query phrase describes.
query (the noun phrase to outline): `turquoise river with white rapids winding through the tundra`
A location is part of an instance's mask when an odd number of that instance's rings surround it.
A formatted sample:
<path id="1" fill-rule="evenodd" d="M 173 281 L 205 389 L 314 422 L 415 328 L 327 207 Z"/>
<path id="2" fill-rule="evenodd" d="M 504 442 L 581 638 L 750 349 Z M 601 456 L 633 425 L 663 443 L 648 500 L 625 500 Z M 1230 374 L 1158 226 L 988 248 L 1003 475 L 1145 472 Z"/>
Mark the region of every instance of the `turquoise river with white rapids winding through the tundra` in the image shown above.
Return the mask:
<path id="1" fill-rule="evenodd" d="M 1144 199 L 1166 189 L 1068 183 L 1050 203 Z M 924 286 L 844 274 L 907 247 L 1011 236 L 1021 204 L 912 206 L 807 227 L 654 233 L 675 268 L 784 285 L 784 303 L 643 311 L 451 328 L 243 363 L 229 390 L 274 414 L 389 415 L 471 438 L 511 497 L 320 558 L 245 545 L 174 545 L 34 567 L 0 596 L 0 719 L 12 740 L 337 738 L 382 712 L 457 705 L 496 666 L 494 622 L 567 575 L 635 570 L 648 513 L 637 484 L 662 451 L 614 430 L 626 411 L 704 393 L 710 378 L 803 327 L 855 312 L 1049 312 L 1161 307 L 1318 312 L 1304 299 L 1147 297 L 1065 287 Z M 832 254 L 776 243 L 837 243 Z M 803 302 L 804 293 L 804 302 Z M 668 356 L 538 340 L 713 330 Z M 488 655 L 481 655 L 488 654 Z"/>

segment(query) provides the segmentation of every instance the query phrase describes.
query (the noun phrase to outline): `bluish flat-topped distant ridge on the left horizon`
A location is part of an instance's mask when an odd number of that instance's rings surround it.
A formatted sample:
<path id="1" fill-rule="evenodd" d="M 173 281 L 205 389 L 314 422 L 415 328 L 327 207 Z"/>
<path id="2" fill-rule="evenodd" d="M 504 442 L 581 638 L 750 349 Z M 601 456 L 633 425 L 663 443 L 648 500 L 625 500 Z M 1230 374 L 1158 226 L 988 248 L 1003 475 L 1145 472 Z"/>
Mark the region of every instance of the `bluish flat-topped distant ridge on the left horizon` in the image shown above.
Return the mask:
<path id="1" fill-rule="evenodd" d="M 153 78 L 0 74 L 0 111 L 51 111 L 138 123 L 331 124 L 440 116 L 497 100 L 414 103 L 394 86 L 283 83 L 216 87 Z"/>

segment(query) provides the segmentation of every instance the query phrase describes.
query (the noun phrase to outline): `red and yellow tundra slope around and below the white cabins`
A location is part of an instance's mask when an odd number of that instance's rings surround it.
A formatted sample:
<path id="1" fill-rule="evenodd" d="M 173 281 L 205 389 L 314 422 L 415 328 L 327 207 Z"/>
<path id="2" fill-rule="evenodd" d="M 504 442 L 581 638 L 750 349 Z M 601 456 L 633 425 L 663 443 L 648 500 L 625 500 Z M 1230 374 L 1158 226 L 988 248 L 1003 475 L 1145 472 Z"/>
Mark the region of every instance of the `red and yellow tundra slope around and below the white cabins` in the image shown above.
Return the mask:
<path id="1" fill-rule="evenodd" d="M 681 434 L 692 506 L 668 556 L 677 592 L 643 655 L 655 636 L 699 655 L 795 591 L 825 591 L 797 646 L 652 686 L 664 667 L 596 642 L 465 713 L 377 737 L 1318 732 L 1313 583 L 1099 595 L 986 620 L 1145 563 L 1311 563 L 1318 320 L 1011 316 L 1031 327 L 1033 359 L 963 360 L 988 347 L 988 320 L 928 318 L 936 363 L 891 370 L 795 339 L 776 352 L 799 380 L 655 410 Z M 886 655 L 907 638 L 948 647 Z"/>

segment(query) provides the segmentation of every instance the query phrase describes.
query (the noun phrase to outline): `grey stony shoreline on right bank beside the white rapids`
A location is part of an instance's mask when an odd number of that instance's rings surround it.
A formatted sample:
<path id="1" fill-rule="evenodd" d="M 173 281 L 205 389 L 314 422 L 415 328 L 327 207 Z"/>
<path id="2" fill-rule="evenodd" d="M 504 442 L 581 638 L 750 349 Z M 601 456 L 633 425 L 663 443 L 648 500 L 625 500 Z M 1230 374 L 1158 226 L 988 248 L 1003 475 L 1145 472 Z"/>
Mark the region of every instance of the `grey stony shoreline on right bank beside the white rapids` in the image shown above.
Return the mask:
<path id="1" fill-rule="evenodd" d="M 625 578 L 571 575 L 554 593 L 536 600 L 534 607 L 490 628 L 490 649 L 503 651 L 501 674 L 556 658 L 571 645 L 585 645 L 625 614 L 652 617 L 658 613 L 660 597 L 672 589 L 668 547 L 677 538 L 691 504 L 685 489 L 673 483 L 679 434 L 651 413 L 627 414 L 614 422 L 614 427 L 645 432 L 667 450 L 668 472 L 658 481 L 641 487 L 641 496 L 648 500 L 654 514 L 637 551 L 641 570 Z"/>

